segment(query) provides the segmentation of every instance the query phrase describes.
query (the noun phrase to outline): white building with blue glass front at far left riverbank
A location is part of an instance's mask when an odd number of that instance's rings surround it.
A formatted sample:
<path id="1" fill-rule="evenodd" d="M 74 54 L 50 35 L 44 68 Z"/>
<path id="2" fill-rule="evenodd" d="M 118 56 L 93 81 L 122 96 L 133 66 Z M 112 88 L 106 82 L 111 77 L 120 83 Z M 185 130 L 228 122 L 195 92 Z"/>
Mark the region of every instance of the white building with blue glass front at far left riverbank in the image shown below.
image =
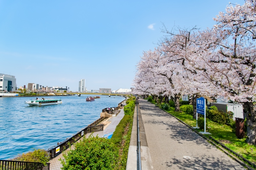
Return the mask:
<path id="1" fill-rule="evenodd" d="M 0 73 L 0 92 L 6 90 L 7 92 L 13 92 L 16 88 L 16 78 L 8 74 Z"/>

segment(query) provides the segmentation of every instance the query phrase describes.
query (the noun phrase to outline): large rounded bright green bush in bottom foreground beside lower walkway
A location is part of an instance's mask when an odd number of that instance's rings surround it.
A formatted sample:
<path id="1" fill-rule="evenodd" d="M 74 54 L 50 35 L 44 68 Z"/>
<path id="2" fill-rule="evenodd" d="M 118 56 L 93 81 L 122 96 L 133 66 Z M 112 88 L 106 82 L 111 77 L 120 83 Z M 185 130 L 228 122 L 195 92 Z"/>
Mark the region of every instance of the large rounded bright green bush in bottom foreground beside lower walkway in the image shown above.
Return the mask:
<path id="1" fill-rule="evenodd" d="M 64 159 L 59 159 L 62 170 L 106 170 L 116 167 L 118 148 L 109 139 L 90 135 L 76 142 L 74 148 L 63 153 Z"/>

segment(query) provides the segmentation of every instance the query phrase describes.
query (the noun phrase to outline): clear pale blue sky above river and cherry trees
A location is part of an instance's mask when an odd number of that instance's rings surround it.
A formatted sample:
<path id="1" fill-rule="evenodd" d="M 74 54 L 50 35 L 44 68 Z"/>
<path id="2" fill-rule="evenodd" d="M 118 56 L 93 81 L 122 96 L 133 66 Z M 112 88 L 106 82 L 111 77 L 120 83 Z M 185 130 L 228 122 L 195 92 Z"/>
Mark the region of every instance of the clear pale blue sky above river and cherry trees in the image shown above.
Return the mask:
<path id="1" fill-rule="evenodd" d="M 78 90 L 132 87 L 143 51 L 168 28 L 212 27 L 226 5 L 243 0 L 0 1 L 0 73 L 18 86 Z"/>

